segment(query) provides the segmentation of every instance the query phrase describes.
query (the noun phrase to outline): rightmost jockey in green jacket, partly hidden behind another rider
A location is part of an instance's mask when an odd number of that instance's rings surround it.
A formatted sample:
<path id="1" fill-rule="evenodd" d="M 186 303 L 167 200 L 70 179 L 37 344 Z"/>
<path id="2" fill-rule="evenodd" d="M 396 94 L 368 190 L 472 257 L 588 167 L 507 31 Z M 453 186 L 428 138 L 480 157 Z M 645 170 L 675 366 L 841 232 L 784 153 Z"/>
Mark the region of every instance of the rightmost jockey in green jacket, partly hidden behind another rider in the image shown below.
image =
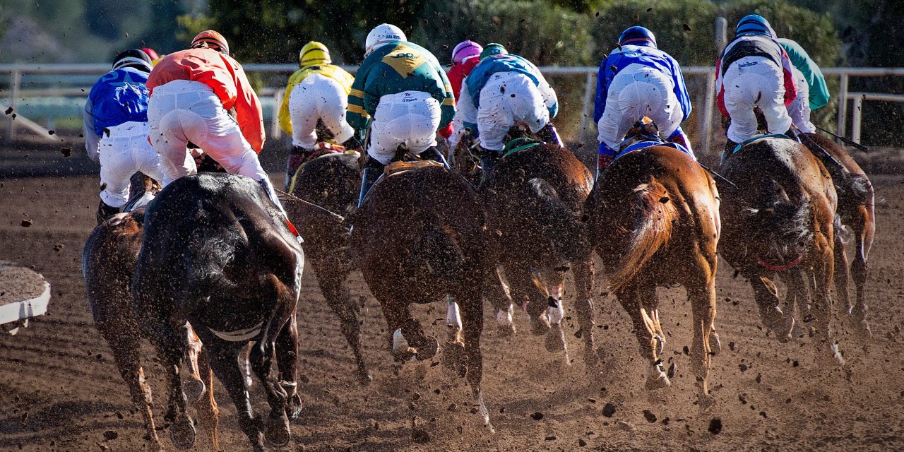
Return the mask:
<path id="1" fill-rule="evenodd" d="M 803 47 L 787 38 L 778 39 L 778 43 L 788 54 L 797 83 L 797 97 L 788 105 L 788 115 L 795 127 L 808 134 L 816 133 L 816 127 L 810 122 L 810 110 L 821 108 L 829 102 L 829 88 L 825 84 L 823 71 L 816 61 L 810 58 Z"/>

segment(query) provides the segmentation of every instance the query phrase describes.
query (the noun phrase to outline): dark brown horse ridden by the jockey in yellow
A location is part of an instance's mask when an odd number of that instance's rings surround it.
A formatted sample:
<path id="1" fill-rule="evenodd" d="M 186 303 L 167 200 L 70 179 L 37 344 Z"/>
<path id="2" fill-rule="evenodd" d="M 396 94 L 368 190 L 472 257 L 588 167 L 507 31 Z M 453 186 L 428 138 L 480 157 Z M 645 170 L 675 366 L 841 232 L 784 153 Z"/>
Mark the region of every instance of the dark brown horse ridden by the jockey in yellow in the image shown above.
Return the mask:
<path id="1" fill-rule="evenodd" d="M 331 212 L 348 215 L 357 205 L 360 189 L 358 157 L 337 153 L 321 155 L 301 165 L 290 184 L 289 194 Z M 352 348 L 357 379 L 367 383 L 371 381 L 371 374 L 361 352 L 363 319 L 347 282 L 354 268 L 348 228 L 342 221 L 291 199 L 285 205 L 289 218 L 305 233 L 307 259 L 317 273 L 317 283 L 326 303 L 339 317 L 342 332 Z"/>

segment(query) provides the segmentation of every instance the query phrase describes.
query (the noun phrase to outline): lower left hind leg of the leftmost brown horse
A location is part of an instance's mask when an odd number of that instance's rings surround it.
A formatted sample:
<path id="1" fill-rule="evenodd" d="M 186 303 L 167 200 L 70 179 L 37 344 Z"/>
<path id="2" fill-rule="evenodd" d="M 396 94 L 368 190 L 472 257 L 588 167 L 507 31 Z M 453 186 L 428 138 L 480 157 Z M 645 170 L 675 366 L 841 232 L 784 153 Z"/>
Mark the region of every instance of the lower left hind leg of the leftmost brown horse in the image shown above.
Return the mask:
<path id="1" fill-rule="evenodd" d="M 150 449 L 155 452 L 163 451 L 164 447 L 160 444 L 160 438 L 157 437 L 154 412 L 151 410 L 151 405 L 153 404 L 151 387 L 145 381 L 145 371 L 141 368 L 139 361 L 140 336 L 127 334 L 126 331 L 109 331 L 108 328 L 99 326 L 98 329 L 113 352 L 113 360 L 116 362 L 119 374 L 126 381 L 129 395 L 132 396 L 132 405 L 141 412 L 141 417 L 145 419 L 145 429 L 147 439 L 150 441 Z"/>

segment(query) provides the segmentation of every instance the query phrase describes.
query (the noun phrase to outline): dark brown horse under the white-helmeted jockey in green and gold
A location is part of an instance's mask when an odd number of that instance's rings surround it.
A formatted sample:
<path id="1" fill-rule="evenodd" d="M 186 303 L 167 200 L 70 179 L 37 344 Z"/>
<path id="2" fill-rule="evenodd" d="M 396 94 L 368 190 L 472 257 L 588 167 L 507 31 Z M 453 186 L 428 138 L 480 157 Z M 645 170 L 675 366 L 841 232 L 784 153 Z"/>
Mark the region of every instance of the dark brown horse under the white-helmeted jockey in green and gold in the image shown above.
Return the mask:
<path id="1" fill-rule="evenodd" d="M 494 275 L 483 203 L 473 185 L 442 165 L 387 166 L 354 214 L 352 247 L 364 280 L 380 302 L 397 361 L 438 352 L 412 318 L 411 303 L 447 297 L 444 362 L 466 376 L 484 423 L 489 414 L 481 380 L 482 289 Z M 401 171 L 397 171 L 401 168 Z"/>

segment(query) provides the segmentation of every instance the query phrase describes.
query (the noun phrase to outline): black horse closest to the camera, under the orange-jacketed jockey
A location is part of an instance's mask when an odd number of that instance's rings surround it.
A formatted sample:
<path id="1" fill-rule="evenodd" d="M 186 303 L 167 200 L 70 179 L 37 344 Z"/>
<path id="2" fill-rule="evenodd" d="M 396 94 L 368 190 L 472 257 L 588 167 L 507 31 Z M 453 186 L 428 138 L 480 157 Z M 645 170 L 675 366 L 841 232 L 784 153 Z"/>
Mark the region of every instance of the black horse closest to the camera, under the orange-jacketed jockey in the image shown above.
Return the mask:
<path id="1" fill-rule="evenodd" d="M 182 177 L 147 206 L 132 296 L 138 324 L 167 372 L 176 447 L 194 443 L 178 372 L 185 322 L 201 338 L 254 450 L 266 450 L 264 438 L 288 443 L 289 419 L 301 410 L 295 312 L 304 253 L 293 231 L 259 184 L 239 175 Z M 237 362 L 252 340 L 249 361 L 267 393 L 266 421 L 252 412 Z M 274 357 L 278 378 L 270 369 Z"/>

